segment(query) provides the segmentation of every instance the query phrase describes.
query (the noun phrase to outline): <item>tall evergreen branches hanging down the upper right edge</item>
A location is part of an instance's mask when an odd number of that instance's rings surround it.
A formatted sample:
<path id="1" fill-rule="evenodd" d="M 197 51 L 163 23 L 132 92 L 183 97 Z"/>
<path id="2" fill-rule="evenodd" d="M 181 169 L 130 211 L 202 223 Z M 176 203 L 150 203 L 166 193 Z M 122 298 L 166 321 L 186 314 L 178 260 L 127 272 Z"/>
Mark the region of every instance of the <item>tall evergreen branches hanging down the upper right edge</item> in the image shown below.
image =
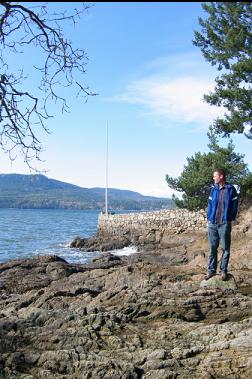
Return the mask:
<path id="1" fill-rule="evenodd" d="M 193 44 L 223 72 L 204 99 L 228 111 L 214 121 L 214 131 L 224 137 L 244 133 L 252 139 L 252 3 L 208 2 L 202 7 L 208 19 L 199 18 L 202 30 L 195 31 Z"/>

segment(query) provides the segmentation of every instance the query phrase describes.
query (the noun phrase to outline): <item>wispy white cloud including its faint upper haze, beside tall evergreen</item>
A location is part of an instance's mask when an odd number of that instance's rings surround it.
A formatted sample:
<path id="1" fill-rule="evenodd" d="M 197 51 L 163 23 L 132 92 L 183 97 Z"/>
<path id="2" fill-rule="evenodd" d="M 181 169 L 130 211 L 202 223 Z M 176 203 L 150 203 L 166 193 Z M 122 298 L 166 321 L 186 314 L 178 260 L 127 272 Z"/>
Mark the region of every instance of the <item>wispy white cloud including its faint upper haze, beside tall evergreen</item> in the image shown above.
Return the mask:
<path id="1" fill-rule="evenodd" d="M 156 57 L 135 73 L 136 79 L 122 93 L 109 100 L 137 105 L 145 114 L 168 120 L 168 125 L 207 128 L 224 113 L 223 108 L 203 100 L 204 94 L 214 90 L 215 77 L 216 70 L 199 52 Z"/>

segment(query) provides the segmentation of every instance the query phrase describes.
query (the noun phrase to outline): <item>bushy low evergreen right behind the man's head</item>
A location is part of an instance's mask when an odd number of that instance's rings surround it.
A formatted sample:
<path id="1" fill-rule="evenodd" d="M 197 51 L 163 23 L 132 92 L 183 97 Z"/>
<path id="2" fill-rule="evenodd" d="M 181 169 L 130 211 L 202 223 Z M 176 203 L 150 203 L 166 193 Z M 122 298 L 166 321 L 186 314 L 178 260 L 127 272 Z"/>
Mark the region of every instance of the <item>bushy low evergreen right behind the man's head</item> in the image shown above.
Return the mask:
<path id="1" fill-rule="evenodd" d="M 187 164 L 178 178 L 166 175 L 168 186 L 183 192 L 182 199 L 173 195 L 173 200 L 179 208 L 197 210 L 207 206 L 210 187 L 213 183 L 213 172 L 217 168 L 226 171 L 227 182 L 241 187 L 242 196 L 252 194 L 252 173 L 244 162 L 244 155 L 235 152 L 235 146 L 231 140 L 227 147 L 221 147 L 212 129 L 208 137 L 209 153 L 198 152 L 188 157 Z"/>

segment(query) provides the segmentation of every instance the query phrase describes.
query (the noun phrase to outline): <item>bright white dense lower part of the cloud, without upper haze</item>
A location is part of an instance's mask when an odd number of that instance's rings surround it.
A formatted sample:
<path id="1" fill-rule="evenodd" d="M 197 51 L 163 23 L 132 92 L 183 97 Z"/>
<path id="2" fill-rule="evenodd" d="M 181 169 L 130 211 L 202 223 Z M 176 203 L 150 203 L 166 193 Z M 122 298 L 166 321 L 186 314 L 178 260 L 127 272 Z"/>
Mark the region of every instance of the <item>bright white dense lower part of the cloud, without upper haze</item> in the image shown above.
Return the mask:
<path id="1" fill-rule="evenodd" d="M 213 88 L 213 81 L 204 77 L 147 77 L 130 83 L 126 91 L 113 100 L 140 105 L 148 114 L 172 123 L 208 127 L 223 112 L 203 101 L 203 95 Z"/>

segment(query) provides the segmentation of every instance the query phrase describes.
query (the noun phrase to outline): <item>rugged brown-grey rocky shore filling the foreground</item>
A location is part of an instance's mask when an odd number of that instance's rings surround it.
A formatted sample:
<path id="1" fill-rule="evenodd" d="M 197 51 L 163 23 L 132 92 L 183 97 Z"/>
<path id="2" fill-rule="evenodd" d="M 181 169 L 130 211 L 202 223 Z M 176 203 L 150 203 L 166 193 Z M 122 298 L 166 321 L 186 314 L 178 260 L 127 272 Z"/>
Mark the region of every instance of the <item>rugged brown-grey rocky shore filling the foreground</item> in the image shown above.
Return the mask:
<path id="1" fill-rule="evenodd" d="M 203 280 L 204 233 L 149 236 L 136 254 L 86 265 L 1 264 L 0 378 L 251 378 L 251 225 L 250 208 L 233 230 L 227 282 Z"/>

